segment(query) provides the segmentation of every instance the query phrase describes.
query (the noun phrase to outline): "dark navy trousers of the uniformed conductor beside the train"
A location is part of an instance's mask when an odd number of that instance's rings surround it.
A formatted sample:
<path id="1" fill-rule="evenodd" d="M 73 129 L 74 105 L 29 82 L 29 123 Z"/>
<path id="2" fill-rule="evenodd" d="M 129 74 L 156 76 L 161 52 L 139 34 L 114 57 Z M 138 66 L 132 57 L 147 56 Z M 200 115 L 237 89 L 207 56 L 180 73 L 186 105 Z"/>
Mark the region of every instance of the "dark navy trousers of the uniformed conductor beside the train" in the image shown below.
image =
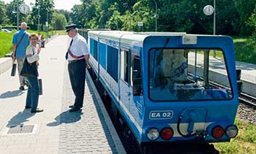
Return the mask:
<path id="1" fill-rule="evenodd" d="M 75 107 L 83 107 L 84 86 L 86 82 L 86 61 L 85 59 L 69 61 L 69 79 L 72 90 L 75 93 Z"/>

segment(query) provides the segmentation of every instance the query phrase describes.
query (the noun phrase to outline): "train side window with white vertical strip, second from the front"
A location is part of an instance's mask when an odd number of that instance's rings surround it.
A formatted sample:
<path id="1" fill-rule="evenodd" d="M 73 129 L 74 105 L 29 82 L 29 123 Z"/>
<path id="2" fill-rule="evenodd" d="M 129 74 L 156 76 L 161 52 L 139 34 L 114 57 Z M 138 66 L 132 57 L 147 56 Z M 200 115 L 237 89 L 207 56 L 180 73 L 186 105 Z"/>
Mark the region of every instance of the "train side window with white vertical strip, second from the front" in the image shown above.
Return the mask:
<path id="1" fill-rule="evenodd" d="M 121 50 L 121 80 L 129 82 L 129 50 Z"/>

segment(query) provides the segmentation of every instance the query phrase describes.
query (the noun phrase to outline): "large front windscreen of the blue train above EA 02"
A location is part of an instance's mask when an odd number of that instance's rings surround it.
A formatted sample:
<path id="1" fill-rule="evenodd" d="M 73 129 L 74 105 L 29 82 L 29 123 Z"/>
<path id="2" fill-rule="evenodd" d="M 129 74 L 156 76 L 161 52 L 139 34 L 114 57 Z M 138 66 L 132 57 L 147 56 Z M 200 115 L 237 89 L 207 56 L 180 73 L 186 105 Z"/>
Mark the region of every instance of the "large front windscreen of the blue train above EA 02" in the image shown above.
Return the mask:
<path id="1" fill-rule="evenodd" d="M 212 56 L 214 52 L 216 58 Z M 151 49 L 148 59 L 152 101 L 232 98 L 222 50 Z"/>

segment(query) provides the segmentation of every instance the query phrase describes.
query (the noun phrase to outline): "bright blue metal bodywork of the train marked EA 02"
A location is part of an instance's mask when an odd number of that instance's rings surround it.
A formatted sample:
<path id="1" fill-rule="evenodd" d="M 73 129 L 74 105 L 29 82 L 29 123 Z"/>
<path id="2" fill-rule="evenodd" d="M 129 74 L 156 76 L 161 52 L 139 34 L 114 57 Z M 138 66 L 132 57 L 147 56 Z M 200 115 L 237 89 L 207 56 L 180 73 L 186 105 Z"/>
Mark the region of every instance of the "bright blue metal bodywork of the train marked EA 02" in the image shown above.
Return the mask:
<path id="1" fill-rule="evenodd" d="M 90 46 L 94 46 L 90 37 Z M 170 39 L 169 42 L 166 40 Z M 182 36 L 146 36 L 142 40 L 142 46 L 127 44 L 126 42 L 119 42 L 113 39 L 102 38 L 99 34 L 99 63 L 91 54 L 91 66 L 96 74 L 99 74 L 99 80 L 104 85 L 105 89 L 110 94 L 111 98 L 116 104 L 118 111 L 124 116 L 128 126 L 131 128 L 138 142 L 174 142 L 195 140 L 195 136 L 181 137 L 177 130 L 177 122 L 179 117 L 184 117 L 181 120 L 183 130 L 193 131 L 193 127 L 204 126 L 210 135 L 206 136 L 206 142 L 217 142 L 229 139 L 227 136 L 222 136 L 221 139 L 214 139 L 211 136 L 211 129 L 214 126 L 222 126 L 226 128 L 234 123 L 236 117 L 236 110 L 238 107 L 238 93 L 236 85 L 236 65 L 233 48 L 233 40 L 228 36 L 197 36 L 196 45 L 183 45 Z M 117 54 L 113 54 L 111 47 L 118 49 Z M 229 100 L 208 100 L 208 101 L 151 101 L 148 96 L 148 51 L 151 48 L 167 47 L 167 48 L 217 48 L 223 50 L 227 66 L 227 74 L 229 74 L 230 86 L 233 90 L 233 98 Z M 91 47 L 90 47 L 91 49 Z M 143 72 L 143 95 L 133 96 L 132 88 L 129 83 L 120 78 L 120 54 L 121 49 L 136 50 L 132 54 L 140 53 L 141 71 Z M 96 63 L 98 66 L 96 66 Z M 99 66 L 99 64 L 101 66 Z M 105 66 L 106 64 L 107 66 Z M 110 66 L 110 70 L 104 70 Z M 98 69 L 99 68 L 99 69 Z M 100 69 L 102 68 L 102 69 Z M 97 71 L 101 70 L 101 71 Z M 117 75 L 110 76 L 110 73 Z M 193 123 L 191 123 L 193 121 Z M 189 124 L 190 123 L 190 124 Z M 157 128 L 159 131 L 162 128 L 171 127 L 174 131 L 174 136 L 170 141 L 164 141 L 160 137 L 155 141 L 150 141 L 146 137 L 148 128 Z M 185 132 L 184 132 L 185 133 Z"/>

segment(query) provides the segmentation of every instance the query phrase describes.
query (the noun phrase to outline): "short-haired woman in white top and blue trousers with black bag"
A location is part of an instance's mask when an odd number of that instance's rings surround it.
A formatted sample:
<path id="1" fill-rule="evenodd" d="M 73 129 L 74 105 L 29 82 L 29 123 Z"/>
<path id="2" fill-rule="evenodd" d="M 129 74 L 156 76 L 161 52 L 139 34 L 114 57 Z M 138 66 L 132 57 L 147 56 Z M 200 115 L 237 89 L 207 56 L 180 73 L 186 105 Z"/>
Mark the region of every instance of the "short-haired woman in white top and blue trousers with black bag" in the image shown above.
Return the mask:
<path id="1" fill-rule="evenodd" d="M 29 80 L 29 89 L 26 96 L 26 109 L 31 108 L 31 113 L 42 112 L 43 109 L 37 108 L 39 99 L 39 81 L 38 81 L 38 61 L 40 47 L 37 47 L 39 36 L 37 34 L 30 34 L 30 45 L 26 48 L 26 58 L 23 64 L 23 70 L 20 75 L 27 77 Z"/>

